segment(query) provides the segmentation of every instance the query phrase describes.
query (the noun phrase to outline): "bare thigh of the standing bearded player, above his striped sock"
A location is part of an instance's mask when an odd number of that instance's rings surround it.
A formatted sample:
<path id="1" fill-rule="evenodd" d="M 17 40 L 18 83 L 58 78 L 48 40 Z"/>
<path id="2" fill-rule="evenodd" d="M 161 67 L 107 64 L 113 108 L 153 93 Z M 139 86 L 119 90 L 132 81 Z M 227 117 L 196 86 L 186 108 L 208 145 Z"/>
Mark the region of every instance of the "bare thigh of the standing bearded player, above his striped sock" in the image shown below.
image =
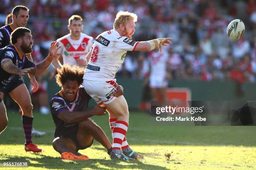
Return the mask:
<path id="1" fill-rule="evenodd" d="M 20 105 L 22 110 L 32 110 L 31 97 L 24 83 L 16 87 L 9 94 Z"/>

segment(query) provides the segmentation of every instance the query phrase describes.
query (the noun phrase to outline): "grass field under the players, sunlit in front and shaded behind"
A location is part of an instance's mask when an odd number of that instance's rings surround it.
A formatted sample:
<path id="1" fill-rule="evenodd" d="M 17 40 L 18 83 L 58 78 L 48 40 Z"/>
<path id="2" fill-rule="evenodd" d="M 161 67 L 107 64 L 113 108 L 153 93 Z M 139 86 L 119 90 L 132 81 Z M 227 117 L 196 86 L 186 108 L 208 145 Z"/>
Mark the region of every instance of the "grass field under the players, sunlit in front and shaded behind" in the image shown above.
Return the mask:
<path id="1" fill-rule="evenodd" d="M 34 127 L 46 131 L 33 142 L 42 153 L 24 151 L 22 122 L 18 112 L 8 112 L 8 128 L 0 135 L 0 163 L 26 162 L 26 169 L 256 169 L 255 126 L 154 126 L 146 113 L 131 112 L 127 139 L 133 150 L 145 155 L 142 161 L 113 161 L 105 148 L 94 142 L 79 152 L 88 161 L 61 160 L 51 146 L 54 123 L 51 115 L 34 113 Z M 108 135 L 108 116 L 93 117 Z M 0 165 L 3 168 L 3 165 Z M 13 168 L 15 169 L 15 168 Z M 23 169 L 23 168 L 20 168 Z"/>

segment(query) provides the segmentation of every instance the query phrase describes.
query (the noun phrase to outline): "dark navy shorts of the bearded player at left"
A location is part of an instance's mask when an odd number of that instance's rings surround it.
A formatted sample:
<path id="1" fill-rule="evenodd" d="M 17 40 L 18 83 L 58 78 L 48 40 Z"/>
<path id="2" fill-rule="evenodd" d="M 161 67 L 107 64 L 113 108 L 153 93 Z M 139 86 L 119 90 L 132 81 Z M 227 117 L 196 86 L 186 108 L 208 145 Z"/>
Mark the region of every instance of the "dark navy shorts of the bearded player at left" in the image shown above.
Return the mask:
<path id="1" fill-rule="evenodd" d="M 23 84 L 23 79 L 19 75 L 15 76 L 8 85 L 4 85 L 3 83 L 0 83 L 0 92 L 3 92 L 5 95 L 7 95 L 9 92 L 13 91 L 16 87 Z"/>

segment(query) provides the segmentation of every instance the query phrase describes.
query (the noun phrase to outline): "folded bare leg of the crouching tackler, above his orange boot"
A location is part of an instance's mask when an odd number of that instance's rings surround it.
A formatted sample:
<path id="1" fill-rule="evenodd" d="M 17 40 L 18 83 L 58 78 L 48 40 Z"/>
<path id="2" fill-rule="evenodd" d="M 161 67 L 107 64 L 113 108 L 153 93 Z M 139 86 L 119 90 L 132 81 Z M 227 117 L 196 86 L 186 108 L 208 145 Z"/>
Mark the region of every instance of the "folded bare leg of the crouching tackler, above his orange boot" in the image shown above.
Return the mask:
<path id="1" fill-rule="evenodd" d="M 59 153 L 63 153 L 67 150 L 75 151 L 77 149 L 77 146 L 72 139 L 64 137 L 55 138 L 52 142 L 52 146 L 54 150 Z"/>

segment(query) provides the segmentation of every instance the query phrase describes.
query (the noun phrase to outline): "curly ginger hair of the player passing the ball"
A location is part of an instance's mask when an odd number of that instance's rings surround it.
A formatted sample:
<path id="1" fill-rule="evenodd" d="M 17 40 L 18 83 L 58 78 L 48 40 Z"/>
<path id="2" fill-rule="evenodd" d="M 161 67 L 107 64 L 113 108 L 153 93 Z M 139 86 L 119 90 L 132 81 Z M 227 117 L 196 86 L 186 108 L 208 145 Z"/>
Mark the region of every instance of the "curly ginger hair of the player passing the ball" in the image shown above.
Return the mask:
<path id="1" fill-rule="evenodd" d="M 120 24 L 123 24 L 125 26 L 128 20 L 133 20 L 134 22 L 137 22 L 138 16 L 135 13 L 129 13 L 128 11 L 119 11 L 116 14 L 113 28 L 118 29 Z"/>

